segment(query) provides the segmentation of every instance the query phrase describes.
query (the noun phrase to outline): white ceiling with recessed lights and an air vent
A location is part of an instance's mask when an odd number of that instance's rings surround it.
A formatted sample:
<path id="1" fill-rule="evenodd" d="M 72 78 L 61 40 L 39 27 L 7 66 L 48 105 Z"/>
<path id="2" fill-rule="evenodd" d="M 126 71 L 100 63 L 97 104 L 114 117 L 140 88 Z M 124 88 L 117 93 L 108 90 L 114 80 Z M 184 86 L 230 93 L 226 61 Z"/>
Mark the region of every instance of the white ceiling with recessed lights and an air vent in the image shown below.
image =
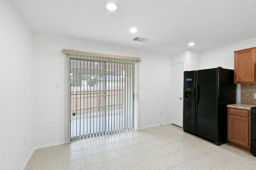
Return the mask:
<path id="1" fill-rule="evenodd" d="M 118 9 L 106 10 L 106 2 Z M 203 51 L 256 37 L 254 0 L 18 0 L 36 33 L 163 53 Z M 131 27 L 138 32 L 130 33 Z M 149 41 L 132 41 L 135 37 Z M 196 45 L 189 47 L 194 41 Z"/>

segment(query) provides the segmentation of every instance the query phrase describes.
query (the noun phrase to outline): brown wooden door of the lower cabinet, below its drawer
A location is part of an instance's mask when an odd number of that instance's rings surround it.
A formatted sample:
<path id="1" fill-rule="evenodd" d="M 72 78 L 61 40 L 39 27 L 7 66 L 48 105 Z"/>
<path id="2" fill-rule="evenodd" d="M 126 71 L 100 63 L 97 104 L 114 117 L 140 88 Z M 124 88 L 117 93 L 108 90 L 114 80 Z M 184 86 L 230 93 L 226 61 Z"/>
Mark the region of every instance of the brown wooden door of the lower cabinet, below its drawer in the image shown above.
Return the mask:
<path id="1" fill-rule="evenodd" d="M 228 141 L 249 147 L 249 119 L 228 115 Z"/>

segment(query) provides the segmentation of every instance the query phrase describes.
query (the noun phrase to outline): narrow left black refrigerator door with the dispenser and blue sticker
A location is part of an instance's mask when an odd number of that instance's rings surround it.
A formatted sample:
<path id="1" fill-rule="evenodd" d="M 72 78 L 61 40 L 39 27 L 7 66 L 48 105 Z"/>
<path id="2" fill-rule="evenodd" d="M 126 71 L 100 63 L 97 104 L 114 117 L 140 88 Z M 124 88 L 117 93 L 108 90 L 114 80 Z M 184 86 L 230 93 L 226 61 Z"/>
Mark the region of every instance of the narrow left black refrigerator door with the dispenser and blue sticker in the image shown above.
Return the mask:
<path id="1" fill-rule="evenodd" d="M 183 96 L 183 130 L 196 133 L 196 106 L 195 106 L 196 72 L 184 72 Z"/>

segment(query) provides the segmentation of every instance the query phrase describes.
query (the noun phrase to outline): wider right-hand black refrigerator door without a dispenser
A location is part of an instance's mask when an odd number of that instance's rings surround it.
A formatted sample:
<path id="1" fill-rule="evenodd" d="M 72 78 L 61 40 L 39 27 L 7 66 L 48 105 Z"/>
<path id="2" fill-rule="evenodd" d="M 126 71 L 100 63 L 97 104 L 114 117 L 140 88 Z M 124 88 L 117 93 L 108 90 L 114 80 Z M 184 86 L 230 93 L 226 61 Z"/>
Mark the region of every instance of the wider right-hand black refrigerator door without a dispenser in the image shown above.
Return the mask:
<path id="1" fill-rule="evenodd" d="M 218 76 L 219 69 L 197 72 L 197 135 L 218 141 Z"/>

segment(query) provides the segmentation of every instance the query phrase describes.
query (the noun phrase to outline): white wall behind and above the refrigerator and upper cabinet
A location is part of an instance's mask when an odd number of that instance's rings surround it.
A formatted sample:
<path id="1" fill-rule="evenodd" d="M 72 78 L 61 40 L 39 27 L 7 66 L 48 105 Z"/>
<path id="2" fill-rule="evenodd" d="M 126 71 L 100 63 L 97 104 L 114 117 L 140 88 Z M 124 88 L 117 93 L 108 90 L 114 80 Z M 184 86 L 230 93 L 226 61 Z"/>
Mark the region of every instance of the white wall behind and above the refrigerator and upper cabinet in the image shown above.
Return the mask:
<path id="1" fill-rule="evenodd" d="M 256 37 L 201 51 L 201 69 L 218 66 L 234 69 L 234 51 L 251 47 L 256 47 Z M 236 102 L 240 103 L 240 84 L 237 84 L 236 87 Z"/>

